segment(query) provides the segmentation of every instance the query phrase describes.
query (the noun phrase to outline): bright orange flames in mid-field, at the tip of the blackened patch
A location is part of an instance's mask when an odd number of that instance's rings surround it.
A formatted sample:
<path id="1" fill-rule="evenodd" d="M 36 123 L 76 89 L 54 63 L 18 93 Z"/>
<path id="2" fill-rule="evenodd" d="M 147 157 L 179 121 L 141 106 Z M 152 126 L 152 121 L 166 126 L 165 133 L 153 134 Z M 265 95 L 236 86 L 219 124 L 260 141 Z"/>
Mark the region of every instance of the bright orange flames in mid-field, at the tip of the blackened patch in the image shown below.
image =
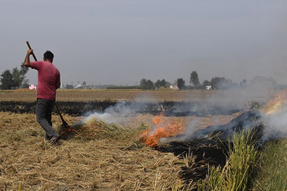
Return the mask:
<path id="1" fill-rule="evenodd" d="M 148 146 L 157 146 L 160 138 L 163 137 L 176 137 L 177 135 L 181 135 L 184 133 L 184 126 L 182 120 L 170 120 L 167 121 L 164 119 L 163 114 L 159 116 L 155 116 L 153 119 L 154 130 L 151 128 L 144 131 L 140 138 L 148 145 Z"/>

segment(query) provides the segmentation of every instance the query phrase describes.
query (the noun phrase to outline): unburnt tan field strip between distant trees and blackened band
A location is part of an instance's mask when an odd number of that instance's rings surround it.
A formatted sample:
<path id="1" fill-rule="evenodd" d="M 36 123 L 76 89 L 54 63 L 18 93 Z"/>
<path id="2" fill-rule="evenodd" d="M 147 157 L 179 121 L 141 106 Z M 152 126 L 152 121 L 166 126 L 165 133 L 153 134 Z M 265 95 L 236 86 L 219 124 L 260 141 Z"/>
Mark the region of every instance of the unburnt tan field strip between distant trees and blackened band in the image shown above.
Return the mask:
<path id="1" fill-rule="evenodd" d="M 57 101 L 103 101 L 103 100 L 144 100 L 144 101 L 204 101 L 206 97 L 226 94 L 216 90 L 57 90 Z M 0 101 L 35 101 L 36 90 L 1 90 Z"/>

